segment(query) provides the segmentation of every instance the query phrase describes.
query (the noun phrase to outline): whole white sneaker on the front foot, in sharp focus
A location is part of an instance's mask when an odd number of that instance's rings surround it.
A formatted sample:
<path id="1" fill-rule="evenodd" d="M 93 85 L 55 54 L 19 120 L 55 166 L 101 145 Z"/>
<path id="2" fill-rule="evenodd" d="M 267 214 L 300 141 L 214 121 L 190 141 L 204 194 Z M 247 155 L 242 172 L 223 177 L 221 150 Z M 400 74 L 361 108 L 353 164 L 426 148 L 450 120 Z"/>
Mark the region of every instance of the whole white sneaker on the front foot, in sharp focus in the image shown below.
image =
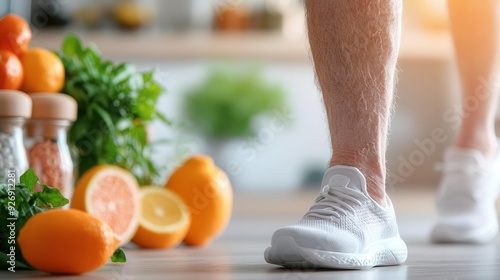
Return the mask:
<path id="1" fill-rule="evenodd" d="M 285 267 L 364 269 L 406 260 L 388 196 L 380 207 L 354 167 L 327 170 L 314 205 L 296 224 L 278 229 L 266 249 L 268 263 Z"/>

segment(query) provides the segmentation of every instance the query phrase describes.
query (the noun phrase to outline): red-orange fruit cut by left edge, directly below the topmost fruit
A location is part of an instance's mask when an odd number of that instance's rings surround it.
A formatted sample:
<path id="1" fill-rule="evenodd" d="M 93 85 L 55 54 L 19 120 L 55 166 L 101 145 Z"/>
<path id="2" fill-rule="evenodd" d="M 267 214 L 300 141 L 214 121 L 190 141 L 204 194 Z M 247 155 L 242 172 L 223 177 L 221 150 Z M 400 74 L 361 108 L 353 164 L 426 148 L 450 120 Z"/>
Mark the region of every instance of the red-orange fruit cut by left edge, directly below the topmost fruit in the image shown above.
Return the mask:
<path id="1" fill-rule="evenodd" d="M 19 58 L 9 50 L 0 50 L 0 89 L 19 89 L 23 76 Z"/>

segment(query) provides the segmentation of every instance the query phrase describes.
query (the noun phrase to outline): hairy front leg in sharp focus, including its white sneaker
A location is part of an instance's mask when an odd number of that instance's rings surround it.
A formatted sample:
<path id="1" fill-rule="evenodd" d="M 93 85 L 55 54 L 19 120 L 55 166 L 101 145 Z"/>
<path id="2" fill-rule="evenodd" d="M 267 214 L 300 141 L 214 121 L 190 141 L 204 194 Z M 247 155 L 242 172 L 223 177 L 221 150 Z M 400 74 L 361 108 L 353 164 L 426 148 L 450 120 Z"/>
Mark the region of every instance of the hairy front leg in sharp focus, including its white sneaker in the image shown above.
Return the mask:
<path id="1" fill-rule="evenodd" d="M 401 0 L 306 0 L 333 154 L 314 204 L 299 222 L 274 232 L 267 262 L 336 269 L 405 262 L 406 244 L 385 195 L 401 8 Z"/>

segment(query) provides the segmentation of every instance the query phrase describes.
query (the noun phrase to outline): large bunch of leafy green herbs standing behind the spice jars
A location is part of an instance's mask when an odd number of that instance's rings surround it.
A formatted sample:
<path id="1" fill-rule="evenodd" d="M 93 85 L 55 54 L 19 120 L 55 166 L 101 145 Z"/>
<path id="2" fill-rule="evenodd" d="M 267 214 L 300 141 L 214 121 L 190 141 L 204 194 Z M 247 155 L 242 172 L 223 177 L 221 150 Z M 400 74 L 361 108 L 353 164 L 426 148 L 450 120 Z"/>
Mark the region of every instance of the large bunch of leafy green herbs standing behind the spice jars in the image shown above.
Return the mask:
<path id="1" fill-rule="evenodd" d="M 156 110 L 165 90 L 154 72 L 104 60 L 71 34 L 58 55 L 66 70 L 62 92 L 78 103 L 69 141 L 78 154 L 79 175 L 98 164 L 115 164 L 134 173 L 141 185 L 158 182 L 160 168 L 151 161 L 146 128 L 154 120 L 168 120 Z"/>

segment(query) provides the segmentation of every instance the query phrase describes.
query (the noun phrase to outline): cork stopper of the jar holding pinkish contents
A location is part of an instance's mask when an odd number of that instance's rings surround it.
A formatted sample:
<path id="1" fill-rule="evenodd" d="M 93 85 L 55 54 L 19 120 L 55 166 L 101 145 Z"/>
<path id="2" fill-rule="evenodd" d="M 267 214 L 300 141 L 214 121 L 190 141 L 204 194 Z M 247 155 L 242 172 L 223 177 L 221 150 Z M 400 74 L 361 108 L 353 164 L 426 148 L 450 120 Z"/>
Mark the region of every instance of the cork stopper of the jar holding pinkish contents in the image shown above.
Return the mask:
<path id="1" fill-rule="evenodd" d="M 56 139 L 58 131 L 65 130 L 76 120 L 77 104 L 73 97 L 62 93 L 32 93 L 31 120 L 27 124 L 28 136 Z"/>

